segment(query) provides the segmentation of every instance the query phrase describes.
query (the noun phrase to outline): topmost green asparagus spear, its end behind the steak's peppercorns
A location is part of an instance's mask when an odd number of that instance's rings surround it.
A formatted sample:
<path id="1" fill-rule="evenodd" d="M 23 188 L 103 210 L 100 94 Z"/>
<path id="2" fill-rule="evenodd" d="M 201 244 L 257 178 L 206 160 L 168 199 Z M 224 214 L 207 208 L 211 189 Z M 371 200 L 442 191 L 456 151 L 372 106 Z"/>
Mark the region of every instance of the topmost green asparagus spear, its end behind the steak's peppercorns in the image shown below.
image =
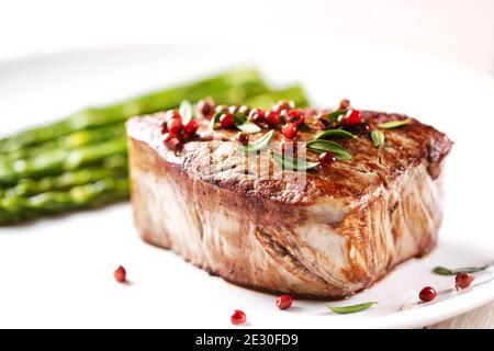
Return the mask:
<path id="1" fill-rule="evenodd" d="M 224 103 L 235 103 L 247 97 L 266 92 L 267 88 L 257 71 L 227 71 L 216 77 L 153 92 L 122 103 L 86 109 L 63 121 L 5 137 L 0 139 L 0 152 L 38 145 L 76 131 L 123 122 L 133 115 L 172 109 L 178 106 L 182 100 L 198 101 L 204 95 L 211 95 Z"/>

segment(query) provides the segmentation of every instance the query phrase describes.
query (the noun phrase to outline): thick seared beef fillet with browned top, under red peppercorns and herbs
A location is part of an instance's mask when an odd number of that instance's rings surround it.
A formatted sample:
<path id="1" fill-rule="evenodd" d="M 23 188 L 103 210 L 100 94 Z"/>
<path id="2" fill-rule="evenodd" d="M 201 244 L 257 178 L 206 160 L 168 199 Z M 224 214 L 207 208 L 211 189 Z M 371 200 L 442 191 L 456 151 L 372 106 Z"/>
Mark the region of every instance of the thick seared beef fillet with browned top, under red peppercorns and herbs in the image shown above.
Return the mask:
<path id="1" fill-rule="evenodd" d="M 452 143 L 416 120 L 368 137 L 338 140 L 352 159 L 261 180 L 234 131 L 205 125 L 177 151 L 161 143 L 164 114 L 127 123 L 135 225 L 144 240 L 248 287 L 339 298 L 369 287 L 396 264 L 428 253 L 441 223 L 442 159 Z M 371 127 L 403 115 L 362 112 Z M 317 123 L 306 117 L 314 137 Z M 206 124 L 206 121 L 203 123 Z M 263 132 L 265 133 L 265 132 Z M 260 135 L 262 133 L 259 133 Z M 281 138 L 277 132 L 272 144 Z M 308 152 L 310 159 L 317 155 Z M 274 173 L 274 174 L 273 174 Z"/>

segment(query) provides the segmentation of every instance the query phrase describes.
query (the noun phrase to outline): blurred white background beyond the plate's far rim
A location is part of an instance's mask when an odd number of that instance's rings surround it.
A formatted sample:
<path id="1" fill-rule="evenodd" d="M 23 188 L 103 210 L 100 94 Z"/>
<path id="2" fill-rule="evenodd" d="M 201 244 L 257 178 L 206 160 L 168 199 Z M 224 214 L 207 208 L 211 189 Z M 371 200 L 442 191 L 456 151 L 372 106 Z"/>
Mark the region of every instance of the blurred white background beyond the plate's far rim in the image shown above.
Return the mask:
<path id="1" fill-rule="evenodd" d="M 0 0 L 0 59 L 190 39 L 221 48 L 243 46 L 246 36 L 269 37 L 273 49 L 297 55 L 304 43 L 277 45 L 291 32 L 379 42 L 494 76 L 492 0 Z"/>

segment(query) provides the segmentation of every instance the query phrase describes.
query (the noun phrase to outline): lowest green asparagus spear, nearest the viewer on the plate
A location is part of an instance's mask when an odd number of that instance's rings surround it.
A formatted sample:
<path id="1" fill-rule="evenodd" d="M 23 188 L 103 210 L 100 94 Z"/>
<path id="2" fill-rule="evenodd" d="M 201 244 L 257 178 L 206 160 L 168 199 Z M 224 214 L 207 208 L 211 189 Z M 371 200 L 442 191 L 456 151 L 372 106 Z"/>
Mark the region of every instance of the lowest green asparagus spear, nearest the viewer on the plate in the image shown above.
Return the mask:
<path id="1" fill-rule="evenodd" d="M 104 178 L 68 192 L 46 192 L 32 197 L 0 200 L 0 225 L 15 224 L 45 214 L 94 208 L 128 197 L 128 180 Z"/>

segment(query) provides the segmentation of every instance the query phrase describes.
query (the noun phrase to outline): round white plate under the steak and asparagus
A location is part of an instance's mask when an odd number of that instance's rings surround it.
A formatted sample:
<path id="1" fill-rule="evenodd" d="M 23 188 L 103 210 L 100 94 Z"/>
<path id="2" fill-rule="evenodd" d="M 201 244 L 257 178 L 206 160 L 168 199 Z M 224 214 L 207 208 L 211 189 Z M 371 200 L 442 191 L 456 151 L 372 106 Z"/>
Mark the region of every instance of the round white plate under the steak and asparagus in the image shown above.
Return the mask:
<path id="1" fill-rule="evenodd" d="M 234 309 L 256 328 L 423 327 L 494 299 L 491 275 L 462 293 L 444 293 L 400 312 L 425 285 L 452 278 L 430 269 L 494 259 L 491 229 L 494 83 L 463 68 L 366 43 L 305 38 L 248 49 L 228 45 L 127 48 L 27 58 L 0 65 L 0 131 L 47 122 L 183 79 L 255 63 L 273 83 L 300 81 L 319 106 L 350 98 L 356 106 L 405 112 L 456 141 L 447 167 L 446 217 L 433 254 L 398 267 L 374 287 L 335 304 L 379 301 L 356 315 L 297 301 L 280 312 L 271 295 L 212 278 L 178 256 L 142 242 L 131 206 L 0 229 L 0 327 L 231 327 Z M 254 47 L 254 46 L 252 46 Z M 282 48 L 282 49 L 281 49 Z M 218 53 L 220 49 L 220 53 Z M 132 284 L 119 285 L 123 264 Z"/>

